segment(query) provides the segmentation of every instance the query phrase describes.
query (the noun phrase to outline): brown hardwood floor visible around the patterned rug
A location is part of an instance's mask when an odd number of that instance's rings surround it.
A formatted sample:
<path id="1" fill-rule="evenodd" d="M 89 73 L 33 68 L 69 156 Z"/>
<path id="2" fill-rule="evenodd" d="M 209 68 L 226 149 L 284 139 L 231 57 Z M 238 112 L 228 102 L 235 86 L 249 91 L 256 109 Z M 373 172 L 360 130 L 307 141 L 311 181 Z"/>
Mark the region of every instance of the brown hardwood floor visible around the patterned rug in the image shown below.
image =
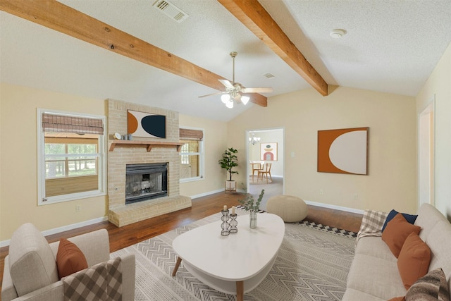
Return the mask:
<path id="1" fill-rule="evenodd" d="M 110 252 L 114 252 L 124 247 L 134 245 L 142 240 L 171 231 L 174 228 L 187 225 L 198 219 L 203 219 L 211 214 L 215 214 L 216 212 L 221 211 L 223 205 L 227 205 L 227 207 L 237 206 L 239 204 L 238 199 L 242 199 L 243 197 L 244 195 L 241 193 L 220 192 L 207 197 L 194 199 L 191 208 L 164 214 L 138 223 L 132 223 L 131 225 L 123 226 L 121 228 L 114 226 L 108 221 L 104 221 L 63 233 L 49 235 L 46 238 L 49 242 L 55 242 L 60 238 L 70 238 L 75 235 L 105 228 L 109 233 Z M 357 233 L 362 221 L 362 215 L 335 209 L 309 206 L 309 214 L 306 219 L 308 221 L 314 221 L 315 223 L 321 223 L 323 225 Z M 0 248 L 0 284 L 3 279 L 4 258 L 7 254 L 8 247 Z"/>

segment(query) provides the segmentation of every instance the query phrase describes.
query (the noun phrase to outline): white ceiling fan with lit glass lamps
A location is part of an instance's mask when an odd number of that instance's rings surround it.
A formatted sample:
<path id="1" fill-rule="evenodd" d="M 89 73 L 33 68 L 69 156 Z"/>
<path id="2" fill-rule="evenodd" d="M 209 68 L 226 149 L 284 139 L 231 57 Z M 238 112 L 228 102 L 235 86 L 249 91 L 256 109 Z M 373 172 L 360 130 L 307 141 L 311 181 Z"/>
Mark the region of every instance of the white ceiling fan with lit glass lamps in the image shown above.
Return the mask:
<path id="1" fill-rule="evenodd" d="M 237 104 L 247 104 L 249 102 L 249 97 L 247 95 L 242 95 L 245 93 L 271 93 L 273 92 L 272 87 L 257 87 L 257 88 L 246 88 L 243 87 L 240 82 L 235 82 L 235 57 L 237 56 L 236 51 L 230 52 L 230 56 L 233 59 L 233 78 L 232 82 L 229 80 L 219 80 L 221 84 L 226 87 L 225 91 L 216 92 L 212 94 L 206 94 L 199 97 L 209 97 L 212 95 L 222 94 L 221 101 L 226 104 L 226 106 L 230 109 L 233 108 L 233 102 L 235 101 Z"/>

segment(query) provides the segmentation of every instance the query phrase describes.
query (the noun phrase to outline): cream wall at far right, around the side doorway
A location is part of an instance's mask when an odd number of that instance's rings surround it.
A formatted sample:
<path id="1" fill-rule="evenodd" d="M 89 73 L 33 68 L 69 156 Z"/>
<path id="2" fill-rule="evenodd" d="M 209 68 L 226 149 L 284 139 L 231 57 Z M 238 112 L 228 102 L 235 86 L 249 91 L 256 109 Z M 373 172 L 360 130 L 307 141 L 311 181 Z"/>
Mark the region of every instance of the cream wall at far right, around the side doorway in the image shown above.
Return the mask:
<path id="1" fill-rule="evenodd" d="M 451 219 L 451 44 L 416 96 L 416 113 L 435 97 L 435 207 Z"/>

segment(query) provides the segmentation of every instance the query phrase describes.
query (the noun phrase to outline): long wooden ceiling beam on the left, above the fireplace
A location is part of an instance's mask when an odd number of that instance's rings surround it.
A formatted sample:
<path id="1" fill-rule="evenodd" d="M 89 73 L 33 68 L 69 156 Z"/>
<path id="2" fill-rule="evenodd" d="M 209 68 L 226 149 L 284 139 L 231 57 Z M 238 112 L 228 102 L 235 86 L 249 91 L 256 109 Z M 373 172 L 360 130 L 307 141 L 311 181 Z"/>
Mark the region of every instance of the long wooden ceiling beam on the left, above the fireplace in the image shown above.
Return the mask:
<path id="1" fill-rule="evenodd" d="M 0 10 L 207 87 L 224 90 L 218 80 L 226 78 L 58 1 L 1 0 Z M 267 98 L 261 94 L 252 94 L 250 101 L 260 106 L 267 106 Z"/>

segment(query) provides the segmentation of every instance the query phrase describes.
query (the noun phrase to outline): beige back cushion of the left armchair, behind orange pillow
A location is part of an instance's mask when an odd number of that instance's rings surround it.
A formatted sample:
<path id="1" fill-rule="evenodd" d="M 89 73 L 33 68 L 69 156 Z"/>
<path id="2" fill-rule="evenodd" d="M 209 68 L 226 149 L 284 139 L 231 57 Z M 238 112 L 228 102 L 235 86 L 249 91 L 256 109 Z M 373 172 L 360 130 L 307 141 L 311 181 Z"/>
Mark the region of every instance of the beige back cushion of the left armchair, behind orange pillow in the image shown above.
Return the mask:
<path id="1" fill-rule="evenodd" d="M 11 237 L 9 271 L 19 297 L 59 280 L 49 243 L 31 223 L 20 226 Z"/>

